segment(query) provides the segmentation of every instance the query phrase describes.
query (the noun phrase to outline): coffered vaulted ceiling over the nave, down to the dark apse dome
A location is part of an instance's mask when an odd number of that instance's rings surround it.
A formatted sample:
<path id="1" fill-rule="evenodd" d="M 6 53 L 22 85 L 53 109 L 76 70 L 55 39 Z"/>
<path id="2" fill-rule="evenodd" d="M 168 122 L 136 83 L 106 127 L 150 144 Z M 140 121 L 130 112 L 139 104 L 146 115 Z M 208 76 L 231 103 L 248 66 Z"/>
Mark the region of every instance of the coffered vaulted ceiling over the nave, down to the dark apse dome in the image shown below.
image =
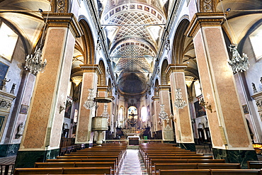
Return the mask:
<path id="1" fill-rule="evenodd" d="M 166 16 L 165 1 L 100 1 L 113 72 L 122 94 L 147 90 Z"/>

